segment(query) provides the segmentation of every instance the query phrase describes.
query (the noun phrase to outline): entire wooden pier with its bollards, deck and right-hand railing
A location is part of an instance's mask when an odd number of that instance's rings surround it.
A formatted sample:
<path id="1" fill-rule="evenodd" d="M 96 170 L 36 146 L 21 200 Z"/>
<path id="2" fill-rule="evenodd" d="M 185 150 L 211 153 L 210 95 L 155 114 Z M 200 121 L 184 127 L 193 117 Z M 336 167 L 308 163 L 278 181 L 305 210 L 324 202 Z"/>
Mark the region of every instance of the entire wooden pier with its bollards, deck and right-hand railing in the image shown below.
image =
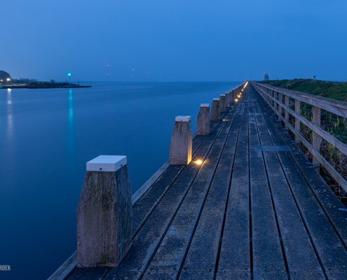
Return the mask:
<path id="1" fill-rule="evenodd" d="M 320 128 L 321 110 L 347 118 L 346 102 L 243 83 L 201 104 L 197 135 L 176 118 L 170 160 L 132 197 L 125 157 L 88 162 L 78 250 L 50 280 L 347 279 L 347 209 L 318 173 L 347 190 L 320 141 L 347 146 Z"/>

